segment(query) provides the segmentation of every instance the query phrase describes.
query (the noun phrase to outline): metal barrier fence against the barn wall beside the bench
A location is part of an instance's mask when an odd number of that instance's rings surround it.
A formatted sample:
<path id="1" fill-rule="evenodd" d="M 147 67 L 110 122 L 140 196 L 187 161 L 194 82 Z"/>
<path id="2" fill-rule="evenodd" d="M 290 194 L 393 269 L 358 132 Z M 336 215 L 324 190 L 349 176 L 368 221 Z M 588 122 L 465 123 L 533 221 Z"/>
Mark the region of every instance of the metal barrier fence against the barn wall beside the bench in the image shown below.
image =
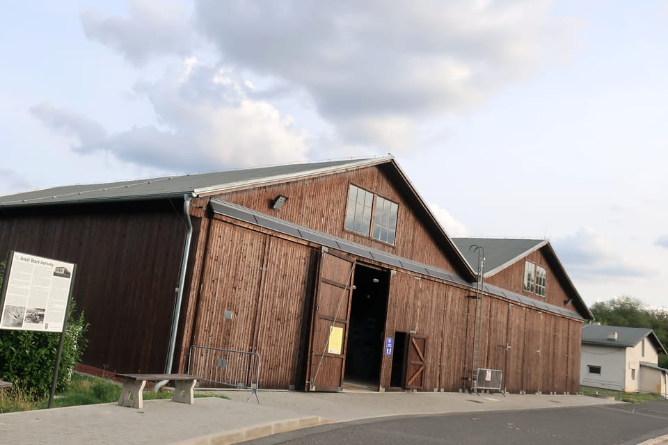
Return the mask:
<path id="1" fill-rule="evenodd" d="M 260 354 L 243 350 L 210 348 L 193 345 L 188 357 L 188 373 L 197 375 L 200 382 L 211 382 L 219 387 L 250 389 L 246 403 L 260 388 Z"/>

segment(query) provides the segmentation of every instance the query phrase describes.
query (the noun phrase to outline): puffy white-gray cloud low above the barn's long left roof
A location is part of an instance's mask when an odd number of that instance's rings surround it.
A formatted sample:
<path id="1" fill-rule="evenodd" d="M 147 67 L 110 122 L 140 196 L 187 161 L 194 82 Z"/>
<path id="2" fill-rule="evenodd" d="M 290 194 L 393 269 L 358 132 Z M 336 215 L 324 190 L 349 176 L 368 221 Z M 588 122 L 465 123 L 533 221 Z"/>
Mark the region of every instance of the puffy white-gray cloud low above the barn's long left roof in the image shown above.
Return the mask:
<path id="1" fill-rule="evenodd" d="M 49 104 L 33 114 L 52 129 L 77 136 L 75 152 L 108 152 L 121 161 L 172 171 L 210 171 L 301 161 L 305 131 L 271 104 L 248 99 L 244 81 L 229 70 L 195 60 L 168 70 L 157 82 L 138 83 L 161 124 L 107 134 L 99 123 Z"/>

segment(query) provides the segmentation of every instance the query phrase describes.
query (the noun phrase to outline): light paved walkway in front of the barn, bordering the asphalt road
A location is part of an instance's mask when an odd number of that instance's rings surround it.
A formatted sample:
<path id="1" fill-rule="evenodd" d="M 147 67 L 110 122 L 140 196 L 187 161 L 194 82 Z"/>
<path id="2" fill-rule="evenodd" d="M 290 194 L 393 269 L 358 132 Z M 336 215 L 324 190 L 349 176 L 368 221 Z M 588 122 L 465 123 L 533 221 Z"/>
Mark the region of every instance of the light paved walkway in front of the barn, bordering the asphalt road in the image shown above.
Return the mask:
<path id="1" fill-rule="evenodd" d="M 617 403 L 585 396 L 472 395 L 458 393 L 303 393 L 260 391 L 260 405 L 246 391 L 196 398 L 194 405 L 145 401 L 143 410 L 116 403 L 0 414 L 0 444 L 233 444 L 322 423 L 402 414 Z"/>

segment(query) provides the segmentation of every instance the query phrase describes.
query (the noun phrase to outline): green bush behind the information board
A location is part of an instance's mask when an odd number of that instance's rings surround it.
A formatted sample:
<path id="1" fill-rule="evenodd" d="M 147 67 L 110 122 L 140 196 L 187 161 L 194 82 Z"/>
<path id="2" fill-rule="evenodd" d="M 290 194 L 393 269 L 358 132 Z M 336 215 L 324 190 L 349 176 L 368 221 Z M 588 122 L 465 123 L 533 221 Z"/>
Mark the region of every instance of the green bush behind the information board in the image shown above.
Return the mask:
<path id="1" fill-rule="evenodd" d="M 5 264 L 0 263 L 0 287 L 4 271 Z M 84 338 L 87 330 L 84 314 L 74 316 L 74 302 L 71 302 L 56 383 L 58 391 L 67 387 L 72 369 L 81 361 L 87 343 Z M 56 332 L 0 330 L 0 379 L 28 389 L 35 399 L 48 396 L 54 379 L 60 337 Z"/>

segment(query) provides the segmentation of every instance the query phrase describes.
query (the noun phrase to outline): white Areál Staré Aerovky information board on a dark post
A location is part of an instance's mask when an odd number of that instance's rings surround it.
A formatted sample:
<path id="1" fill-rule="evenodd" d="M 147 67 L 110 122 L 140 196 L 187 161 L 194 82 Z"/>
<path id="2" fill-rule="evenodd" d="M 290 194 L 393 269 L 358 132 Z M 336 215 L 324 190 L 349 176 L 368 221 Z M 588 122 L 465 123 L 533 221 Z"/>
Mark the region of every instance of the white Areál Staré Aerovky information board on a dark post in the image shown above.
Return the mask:
<path id="1" fill-rule="evenodd" d="M 0 295 L 0 329 L 60 332 L 51 382 L 53 406 L 76 264 L 10 252 Z"/>

